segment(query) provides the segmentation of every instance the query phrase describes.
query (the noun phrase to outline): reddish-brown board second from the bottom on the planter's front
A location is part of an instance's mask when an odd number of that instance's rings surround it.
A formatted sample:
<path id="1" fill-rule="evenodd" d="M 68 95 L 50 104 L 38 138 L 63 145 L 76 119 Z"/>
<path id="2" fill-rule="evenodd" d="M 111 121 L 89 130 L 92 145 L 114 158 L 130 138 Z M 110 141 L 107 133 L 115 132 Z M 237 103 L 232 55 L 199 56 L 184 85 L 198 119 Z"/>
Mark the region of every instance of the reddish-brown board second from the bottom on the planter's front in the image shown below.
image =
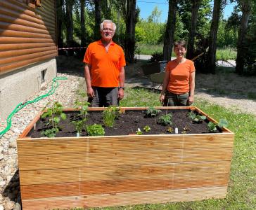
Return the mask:
<path id="1" fill-rule="evenodd" d="M 38 199 L 47 197 L 101 195 L 115 193 L 132 193 L 155 190 L 173 190 L 177 188 L 201 188 L 225 186 L 229 174 L 212 174 L 212 176 L 191 177 L 188 179 L 124 179 L 102 180 L 76 183 L 42 184 L 21 186 L 23 199 Z M 205 175 L 205 174 L 204 174 Z M 209 176 L 209 174 L 207 174 Z M 53 189 L 53 190 L 52 190 Z"/>

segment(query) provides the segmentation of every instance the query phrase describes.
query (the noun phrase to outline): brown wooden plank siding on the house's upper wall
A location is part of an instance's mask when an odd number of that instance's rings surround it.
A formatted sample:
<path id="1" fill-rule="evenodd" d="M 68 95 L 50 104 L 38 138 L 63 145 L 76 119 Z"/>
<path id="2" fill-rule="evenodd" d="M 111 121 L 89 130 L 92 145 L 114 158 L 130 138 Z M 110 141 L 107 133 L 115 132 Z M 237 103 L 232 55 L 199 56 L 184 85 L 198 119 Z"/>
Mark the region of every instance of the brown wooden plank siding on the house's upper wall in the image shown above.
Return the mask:
<path id="1" fill-rule="evenodd" d="M 0 0 L 0 74 L 57 55 L 56 0 Z"/>

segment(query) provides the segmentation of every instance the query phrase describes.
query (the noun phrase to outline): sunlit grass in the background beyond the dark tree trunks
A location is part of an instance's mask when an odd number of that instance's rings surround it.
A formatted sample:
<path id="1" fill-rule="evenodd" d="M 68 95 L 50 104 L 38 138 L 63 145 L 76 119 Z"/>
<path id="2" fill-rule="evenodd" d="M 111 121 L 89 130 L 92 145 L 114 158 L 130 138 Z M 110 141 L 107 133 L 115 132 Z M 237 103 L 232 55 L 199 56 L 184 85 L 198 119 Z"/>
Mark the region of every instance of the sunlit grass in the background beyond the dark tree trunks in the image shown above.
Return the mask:
<path id="1" fill-rule="evenodd" d="M 135 54 L 152 55 L 154 52 L 162 52 L 162 47 L 162 44 L 151 45 L 145 43 L 138 43 Z M 174 52 L 172 52 L 172 57 L 175 57 Z M 230 47 L 218 48 L 216 52 L 216 59 L 236 59 L 236 50 Z"/>

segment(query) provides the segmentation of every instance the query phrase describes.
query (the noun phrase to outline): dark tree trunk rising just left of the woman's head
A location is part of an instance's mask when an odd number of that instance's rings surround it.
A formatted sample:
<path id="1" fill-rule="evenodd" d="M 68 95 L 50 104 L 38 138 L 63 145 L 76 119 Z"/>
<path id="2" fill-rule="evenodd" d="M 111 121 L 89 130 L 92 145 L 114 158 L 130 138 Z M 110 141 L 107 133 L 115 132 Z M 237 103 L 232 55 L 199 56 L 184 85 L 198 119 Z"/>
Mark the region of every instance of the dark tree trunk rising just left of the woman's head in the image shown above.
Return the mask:
<path id="1" fill-rule="evenodd" d="M 172 45 L 174 41 L 174 30 L 176 24 L 176 13 L 177 13 L 177 1 L 169 0 L 169 11 L 168 20 L 165 29 L 164 47 L 163 47 L 163 58 L 164 60 L 170 60 L 172 57 Z"/>

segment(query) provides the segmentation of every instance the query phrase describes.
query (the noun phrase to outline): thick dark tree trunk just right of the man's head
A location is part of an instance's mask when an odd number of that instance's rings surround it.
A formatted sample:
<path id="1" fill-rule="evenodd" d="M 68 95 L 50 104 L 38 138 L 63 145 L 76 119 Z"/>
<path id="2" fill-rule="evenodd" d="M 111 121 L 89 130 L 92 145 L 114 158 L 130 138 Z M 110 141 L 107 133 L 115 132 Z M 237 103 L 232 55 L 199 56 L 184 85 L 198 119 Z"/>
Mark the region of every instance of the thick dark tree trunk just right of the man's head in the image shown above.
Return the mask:
<path id="1" fill-rule="evenodd" d="M 127 1 L 126 32 L 124 43 L 124 55 L 127 62 L 134 62 L 135 50 L 135 25 L 136 25 L 136 0 Z"/>

